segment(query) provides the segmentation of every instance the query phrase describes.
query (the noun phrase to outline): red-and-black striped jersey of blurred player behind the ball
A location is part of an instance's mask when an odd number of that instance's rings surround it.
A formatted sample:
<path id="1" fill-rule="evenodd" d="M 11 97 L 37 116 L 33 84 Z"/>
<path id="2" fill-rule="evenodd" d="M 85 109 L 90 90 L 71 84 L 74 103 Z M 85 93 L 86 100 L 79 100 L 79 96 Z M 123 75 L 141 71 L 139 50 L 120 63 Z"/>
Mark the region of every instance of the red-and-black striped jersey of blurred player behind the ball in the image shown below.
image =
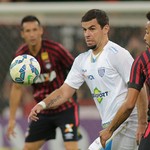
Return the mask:
<path id="1" fill-rule="evenodd" d="M 19 47 L 16 52 L 16 56 L 22 54 L 32 55 L 26 44 Z M 71 69 L 74 58 L 60 43 L 51 40 L 42 40 L 41 49 L 37 56 L 34 57 L 38 60 L 41 66 L 41 74 L 36 80 L 36 83 L 32 84 L 33 96 L 38 103 L 63 84 L 69 70 Z M 44 110 L 43 113 L 53 114 L 76 105 L 76 98 L 72 98 L 58 108 Z"/>

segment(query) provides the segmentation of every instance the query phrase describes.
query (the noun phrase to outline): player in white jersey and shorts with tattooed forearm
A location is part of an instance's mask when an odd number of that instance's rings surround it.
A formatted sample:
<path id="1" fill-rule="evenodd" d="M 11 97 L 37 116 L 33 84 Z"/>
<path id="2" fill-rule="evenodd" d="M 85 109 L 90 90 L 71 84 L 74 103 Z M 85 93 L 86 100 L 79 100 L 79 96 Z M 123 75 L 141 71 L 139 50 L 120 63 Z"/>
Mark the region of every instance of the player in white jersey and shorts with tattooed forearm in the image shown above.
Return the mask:
<path id="1" fill-rule="evenodd" d="M 103 128 L 109 125 L 124 102 L 133 58 L 126 49 L 109 40 L 109 18 L 104 11 L 89 10 L 82 17 L 81 24 L 89 50 L 76 57 L 64 84 L 31 110 L 30 120 L 37 121 L 41 110 L 64 103 L 84 81 L 90 88 Z M 143 104 L 137 105 L 139 117 L 135 108 L 128 120 L 118 129 L 107 150 L 137 149 L 136 141 L 141 138 L 146 128 L 142 124 L 147 119 L 144 92 L 141 92 Z M 96 139 L 88 149 L 100 150 L 100 139 Z"/>

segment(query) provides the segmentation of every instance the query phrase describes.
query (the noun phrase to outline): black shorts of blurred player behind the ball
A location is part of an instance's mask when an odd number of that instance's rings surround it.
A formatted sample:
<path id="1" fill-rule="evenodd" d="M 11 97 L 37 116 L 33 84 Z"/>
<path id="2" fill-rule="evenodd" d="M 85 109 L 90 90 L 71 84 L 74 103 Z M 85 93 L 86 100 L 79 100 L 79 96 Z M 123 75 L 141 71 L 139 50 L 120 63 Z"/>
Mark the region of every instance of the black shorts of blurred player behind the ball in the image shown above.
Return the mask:
<path id="1" fill-rule="evenodd" d="M 38 121 L 32 121 L 26 132 L 26 142 L 50 140 L 56 138 L 59 127 L 64 141 L 78 140 L 79 116 L 78 108 L 72 107 L 54 115 L 39 114 Z"/>

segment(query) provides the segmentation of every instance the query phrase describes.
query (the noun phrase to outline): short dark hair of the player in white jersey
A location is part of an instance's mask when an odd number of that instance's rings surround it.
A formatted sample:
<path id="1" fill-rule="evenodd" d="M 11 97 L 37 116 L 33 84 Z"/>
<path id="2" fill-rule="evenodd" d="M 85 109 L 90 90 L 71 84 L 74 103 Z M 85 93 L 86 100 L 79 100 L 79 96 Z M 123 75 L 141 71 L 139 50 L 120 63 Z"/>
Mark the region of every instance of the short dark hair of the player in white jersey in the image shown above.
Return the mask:
<path id="1" fill-rule="evenodd" d="M 87 22 L 92 19 L 96 19 L 99 25 L 103 28 L 105 25 L 109 24 L 109 17 L 106 12 L 99 9 L 91 9 L 85 13 L 82 17 L 81 22 Z"/>

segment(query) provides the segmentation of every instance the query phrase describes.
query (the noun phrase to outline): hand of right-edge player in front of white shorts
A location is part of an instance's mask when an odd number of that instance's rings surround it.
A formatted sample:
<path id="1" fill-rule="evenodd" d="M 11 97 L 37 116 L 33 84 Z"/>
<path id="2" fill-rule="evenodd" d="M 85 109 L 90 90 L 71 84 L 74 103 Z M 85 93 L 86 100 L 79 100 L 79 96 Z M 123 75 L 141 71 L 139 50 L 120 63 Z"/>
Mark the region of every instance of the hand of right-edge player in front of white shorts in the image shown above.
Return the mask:
<path id="1" fill-rule="evenodd" d="M 106 128 L 99 132 L 100 142 L 103 148 L 106 146 L 106 141 L 112 136 L 112 133 Z"/>

